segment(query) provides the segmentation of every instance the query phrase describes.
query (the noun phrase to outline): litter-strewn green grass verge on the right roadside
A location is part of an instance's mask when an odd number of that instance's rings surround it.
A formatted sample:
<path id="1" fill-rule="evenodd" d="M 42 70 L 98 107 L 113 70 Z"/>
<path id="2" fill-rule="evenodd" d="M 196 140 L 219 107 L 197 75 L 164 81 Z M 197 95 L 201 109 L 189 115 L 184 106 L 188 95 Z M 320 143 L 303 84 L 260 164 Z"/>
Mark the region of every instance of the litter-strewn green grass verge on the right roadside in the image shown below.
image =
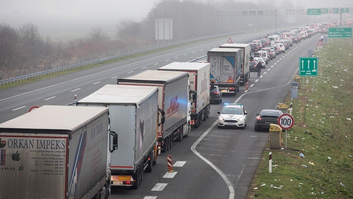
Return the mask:
<path id="1" fill-rule="evenodd" d="M 285 103 L 293 103 L 295 122 L 288 130 L 287 150 L 269 149 L 267 144 L 247 198 L 353 198 L 353 157 L 349 157 L 353 155 L 353 121 L 347 120 L 353 119 L 353 46 L 349 47 L 348 39 L 343 45 L 342 39 L 331 39 L 315 52 L 319 76 L 314 78 L 314 93 L 308 77 L 298 99 L 287 96 Z M 300 150 L 305 158 L 291 149 Z M 272 165 L 279 165 L 272 167 L 271 174 L 269 152 Z"/>

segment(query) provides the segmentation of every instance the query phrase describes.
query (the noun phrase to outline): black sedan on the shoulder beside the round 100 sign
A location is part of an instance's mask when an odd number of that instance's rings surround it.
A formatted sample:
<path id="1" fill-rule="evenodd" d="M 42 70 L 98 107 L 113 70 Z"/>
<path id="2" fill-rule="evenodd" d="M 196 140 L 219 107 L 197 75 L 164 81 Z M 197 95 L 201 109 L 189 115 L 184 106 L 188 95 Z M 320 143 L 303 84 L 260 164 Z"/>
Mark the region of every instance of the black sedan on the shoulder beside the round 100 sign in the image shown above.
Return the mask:
<path id="1" fill-rule="evenodd" d="M 260 114 L 256 114 L 255 131 L 270 129 L 270 124 L 278 125 L 278 118 L 283 114 L 281 110 L 264 109 Z"/>

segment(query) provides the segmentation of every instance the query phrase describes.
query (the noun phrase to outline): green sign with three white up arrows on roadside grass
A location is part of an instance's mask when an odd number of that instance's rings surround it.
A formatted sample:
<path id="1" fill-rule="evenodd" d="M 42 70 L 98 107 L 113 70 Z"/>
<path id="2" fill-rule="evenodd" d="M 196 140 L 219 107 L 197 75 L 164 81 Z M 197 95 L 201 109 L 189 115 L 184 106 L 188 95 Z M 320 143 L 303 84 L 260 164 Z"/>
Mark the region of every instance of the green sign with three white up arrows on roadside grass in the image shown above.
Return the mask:
<path id="1" fill-rule="evenodd" d="M 317 76 L 317 57 L 299 57 L 299 76 Z"/>

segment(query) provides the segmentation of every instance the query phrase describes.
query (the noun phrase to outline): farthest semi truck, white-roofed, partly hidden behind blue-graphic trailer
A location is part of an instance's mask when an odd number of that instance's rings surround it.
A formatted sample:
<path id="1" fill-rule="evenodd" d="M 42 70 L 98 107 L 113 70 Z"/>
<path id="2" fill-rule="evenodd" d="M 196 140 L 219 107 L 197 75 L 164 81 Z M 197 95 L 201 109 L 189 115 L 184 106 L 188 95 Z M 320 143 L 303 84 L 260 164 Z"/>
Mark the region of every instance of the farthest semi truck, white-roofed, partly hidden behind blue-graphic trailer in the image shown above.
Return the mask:
<path id="1" fill-rule="evenodd" d="M 239 83 L 241 86 L 244 86 L 250 78 L 250 53 L 251 48 L 250 44 L 223 44 L 220 45 L 220 48 L 234 48 L 241 49 L 241 73 Z"/>

